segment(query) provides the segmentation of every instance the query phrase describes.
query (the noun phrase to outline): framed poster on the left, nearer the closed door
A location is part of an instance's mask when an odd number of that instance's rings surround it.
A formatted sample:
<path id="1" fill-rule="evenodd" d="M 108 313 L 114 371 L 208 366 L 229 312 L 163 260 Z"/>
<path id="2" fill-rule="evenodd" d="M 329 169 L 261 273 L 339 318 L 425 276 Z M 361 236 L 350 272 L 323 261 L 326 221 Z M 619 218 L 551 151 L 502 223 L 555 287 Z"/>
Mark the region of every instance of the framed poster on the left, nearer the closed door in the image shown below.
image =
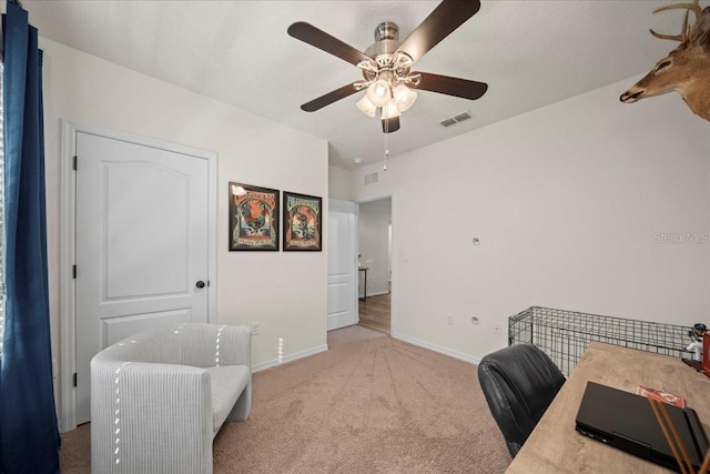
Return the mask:
<path id="1" fill-rule="evenodd" d="M 233 250 L 278 250 L 278 190 L 230 182 Z"/>

